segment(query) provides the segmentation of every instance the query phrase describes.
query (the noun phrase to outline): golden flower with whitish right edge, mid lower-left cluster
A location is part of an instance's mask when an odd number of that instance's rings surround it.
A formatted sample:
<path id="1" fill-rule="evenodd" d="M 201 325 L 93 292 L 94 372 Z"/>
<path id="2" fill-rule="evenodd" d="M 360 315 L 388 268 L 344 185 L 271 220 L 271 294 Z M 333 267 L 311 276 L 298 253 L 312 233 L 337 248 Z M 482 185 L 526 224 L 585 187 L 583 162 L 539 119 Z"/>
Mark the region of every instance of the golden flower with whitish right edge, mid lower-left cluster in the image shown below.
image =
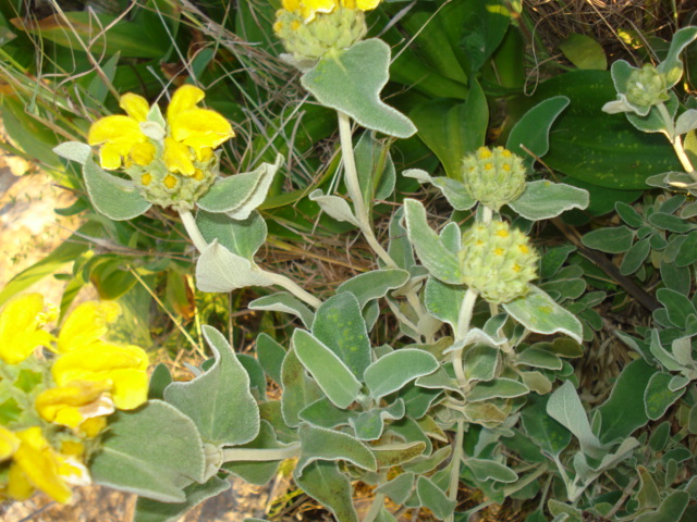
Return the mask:
<path id="1" fill-rule="evenodd" d="M 73 381 L 64 386 L 44 390 L 34 402 L 45 421 L 76 428 L 88 419 L 113 413 L 107 381 Z M 91 430 L 90 430 L 91 432 Z"/>

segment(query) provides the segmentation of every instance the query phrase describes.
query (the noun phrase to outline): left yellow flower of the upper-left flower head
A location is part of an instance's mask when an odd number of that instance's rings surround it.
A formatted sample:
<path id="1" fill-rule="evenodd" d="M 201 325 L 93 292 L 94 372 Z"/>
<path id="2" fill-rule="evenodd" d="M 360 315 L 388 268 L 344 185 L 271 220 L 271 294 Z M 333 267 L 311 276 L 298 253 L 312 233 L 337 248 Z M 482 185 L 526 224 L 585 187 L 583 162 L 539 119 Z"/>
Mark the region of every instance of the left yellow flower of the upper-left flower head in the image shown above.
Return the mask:
<path id="1" fill-rule="evenodd" d="M 152 161 L 155 147 L 140 130 L 140 123 L 146 121 L 148 102 L 142 96 L 126 92 L 119 100 L 119 105 L 126 111 L 127 116 L 114 114 L 97 120 L 89 127 L 87 142 L 101 145 L 99 162 L 103 169 L 120 169 L 123 160 L 130 159 L 138 165 L 148 158 Z"/>

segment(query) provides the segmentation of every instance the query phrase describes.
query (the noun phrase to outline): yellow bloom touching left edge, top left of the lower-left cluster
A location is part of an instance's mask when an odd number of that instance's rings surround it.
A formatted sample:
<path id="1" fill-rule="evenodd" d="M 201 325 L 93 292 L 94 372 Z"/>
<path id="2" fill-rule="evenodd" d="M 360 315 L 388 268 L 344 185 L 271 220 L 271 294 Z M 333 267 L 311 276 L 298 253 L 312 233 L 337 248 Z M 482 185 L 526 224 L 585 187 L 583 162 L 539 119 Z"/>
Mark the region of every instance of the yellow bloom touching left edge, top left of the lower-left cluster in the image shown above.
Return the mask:
<path id="1" fill-rule="evenodd" d="M 8 303 L 0 313 L 0 359 L 19 364 L 39 346 L 48 346 L 53 337 L 40 330 L 44 297 L 26 294 Z"/>

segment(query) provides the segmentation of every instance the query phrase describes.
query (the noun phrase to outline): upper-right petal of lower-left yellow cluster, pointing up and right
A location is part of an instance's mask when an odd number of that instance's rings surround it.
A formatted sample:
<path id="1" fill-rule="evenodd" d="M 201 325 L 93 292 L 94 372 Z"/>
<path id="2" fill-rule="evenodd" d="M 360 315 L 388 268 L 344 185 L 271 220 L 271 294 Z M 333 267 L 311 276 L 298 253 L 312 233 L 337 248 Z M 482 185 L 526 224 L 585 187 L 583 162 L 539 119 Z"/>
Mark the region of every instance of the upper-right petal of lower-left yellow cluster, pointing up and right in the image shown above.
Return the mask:
<path id="1" fill-rule="evenodd" d="M 113 301 L 88 301 L 78 306 L 65 320 L 58 336 L 58 351 L 66 352 L 89 345 L 109 331 L 121 314 L 121 307 Z"/>

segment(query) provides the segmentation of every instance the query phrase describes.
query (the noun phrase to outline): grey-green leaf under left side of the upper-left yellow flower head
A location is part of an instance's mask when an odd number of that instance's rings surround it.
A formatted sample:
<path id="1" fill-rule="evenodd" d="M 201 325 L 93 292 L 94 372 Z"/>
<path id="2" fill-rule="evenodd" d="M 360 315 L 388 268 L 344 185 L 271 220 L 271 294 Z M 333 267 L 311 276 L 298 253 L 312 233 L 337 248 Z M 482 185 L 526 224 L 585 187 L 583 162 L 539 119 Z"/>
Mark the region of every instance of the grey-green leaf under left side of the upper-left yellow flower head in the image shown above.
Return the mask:
<path id="1" fill-rule="evenodd" d="M 91 159 L 87 159 L 83 165 L 83 176 L 89 200 L 97 211 L 110 220 L 132 220 L 151 207 L 132 182 L 112 176 L 97 166 Z"/>

